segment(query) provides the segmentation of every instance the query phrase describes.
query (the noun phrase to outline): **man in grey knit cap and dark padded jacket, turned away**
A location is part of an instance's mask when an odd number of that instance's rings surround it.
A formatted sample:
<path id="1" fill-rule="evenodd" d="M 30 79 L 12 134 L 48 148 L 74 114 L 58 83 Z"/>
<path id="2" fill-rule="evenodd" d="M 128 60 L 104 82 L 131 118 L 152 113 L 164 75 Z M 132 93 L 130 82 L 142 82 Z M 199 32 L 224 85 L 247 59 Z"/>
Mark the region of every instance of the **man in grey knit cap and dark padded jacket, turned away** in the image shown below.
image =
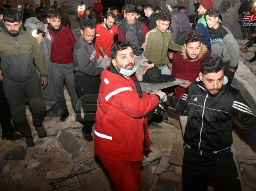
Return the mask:
<path id="1" fill-rule="evenodd" d="M 189 33 L 192 28 L 189 24 L 187 16 L 180 12 L 177 6 L 177 0 L 166 0 L 166 7 L 170 11 L 171 15 L 171 24 L 169 30 L 172 33 L 173 42 L 183 45 L 187 33 Z"/>

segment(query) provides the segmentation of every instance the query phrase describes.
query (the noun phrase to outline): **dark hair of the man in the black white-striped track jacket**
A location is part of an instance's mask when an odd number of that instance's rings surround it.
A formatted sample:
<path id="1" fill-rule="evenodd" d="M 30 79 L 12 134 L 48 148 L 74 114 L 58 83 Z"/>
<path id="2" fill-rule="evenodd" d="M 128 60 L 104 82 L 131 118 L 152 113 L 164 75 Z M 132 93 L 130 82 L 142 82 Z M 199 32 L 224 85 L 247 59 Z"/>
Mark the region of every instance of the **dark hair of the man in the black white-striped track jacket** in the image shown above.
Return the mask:
<path id="1" fill-rule="evenodd" d="M 221 56 L 209 55 L 206 56 L 200 63 L 201 73 L 217 73 L 224 69 L 224 63 Z"/>

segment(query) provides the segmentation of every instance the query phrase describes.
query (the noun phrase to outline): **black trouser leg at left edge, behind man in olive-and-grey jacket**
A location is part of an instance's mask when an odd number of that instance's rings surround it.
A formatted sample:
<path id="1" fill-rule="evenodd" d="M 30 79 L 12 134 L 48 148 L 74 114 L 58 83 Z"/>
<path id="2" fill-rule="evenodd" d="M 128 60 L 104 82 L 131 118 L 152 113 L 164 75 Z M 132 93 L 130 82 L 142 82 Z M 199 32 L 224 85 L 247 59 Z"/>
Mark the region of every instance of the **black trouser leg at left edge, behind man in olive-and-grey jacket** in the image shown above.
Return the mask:
<path id="1" fill-rule="evenodd" d="M 0 81 L 0 124 L 2 127 L 2 134 L 5 135 L 11 127 L 11 112 L 7 99 L 4 96 L 2 81 Z"/>

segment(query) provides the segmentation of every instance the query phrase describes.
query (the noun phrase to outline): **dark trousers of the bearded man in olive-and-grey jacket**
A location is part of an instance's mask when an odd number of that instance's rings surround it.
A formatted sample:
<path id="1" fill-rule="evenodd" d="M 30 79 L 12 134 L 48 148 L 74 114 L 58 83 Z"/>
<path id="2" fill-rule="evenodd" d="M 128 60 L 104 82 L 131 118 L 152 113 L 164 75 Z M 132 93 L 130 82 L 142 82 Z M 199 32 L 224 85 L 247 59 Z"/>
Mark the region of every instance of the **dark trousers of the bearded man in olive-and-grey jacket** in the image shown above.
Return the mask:
<path id="1" fill-rule="evenodd" d="M 37 74 L 34 73 L 31 78 L 22 82 L 4 78 L 3 83 L 4 95 L 8 100 L 13 121 L 21 135 L 29 138 L 32 133 L 26 118 L 26 98 L 28 98 L 28 103 L 32 110 L 33 125 L 35 127 L 42 126 L 46 111 L 45 101 L 41 98 L 40 82 Z"/>

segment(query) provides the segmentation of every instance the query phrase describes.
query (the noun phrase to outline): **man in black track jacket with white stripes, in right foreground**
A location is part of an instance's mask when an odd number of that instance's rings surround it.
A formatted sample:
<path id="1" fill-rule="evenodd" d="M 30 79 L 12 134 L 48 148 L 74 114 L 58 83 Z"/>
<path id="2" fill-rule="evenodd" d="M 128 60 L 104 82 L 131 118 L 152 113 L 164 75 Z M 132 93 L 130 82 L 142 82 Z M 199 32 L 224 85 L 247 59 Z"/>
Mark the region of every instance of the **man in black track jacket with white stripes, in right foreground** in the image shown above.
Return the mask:
<path id="1" fill-rule="evenodd" d="M 220 56 L 207 56 L 200 68 L 200 81 L 189 85 L 180 100 L 171 96 L 165 99 L 167 105 L 187 116 L 183 188 L 205 191 L 211 181 L 217 190 L 239 191 L 241 182 L 232 147 L 233 120 L 235 116 L 256 137 L 256 116 L 239 91 L 227 85 Z"/>

